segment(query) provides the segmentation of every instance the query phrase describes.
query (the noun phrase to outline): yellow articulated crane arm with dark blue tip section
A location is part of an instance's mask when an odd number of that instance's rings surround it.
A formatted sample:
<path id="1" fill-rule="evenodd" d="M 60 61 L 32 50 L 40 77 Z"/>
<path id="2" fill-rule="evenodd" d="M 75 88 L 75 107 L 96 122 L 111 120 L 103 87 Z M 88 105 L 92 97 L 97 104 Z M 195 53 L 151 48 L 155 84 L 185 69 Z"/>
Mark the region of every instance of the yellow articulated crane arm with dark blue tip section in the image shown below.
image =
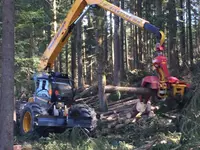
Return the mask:
<path id="1" fill-rule="evenodd" d="M 61 24 L 58 32 L 55 34 L 50 44 L 46 48 L 40 60 L 38 71 L 53 67 L 56 57 L 62 50 L 62 47 L 68 41 L 73 28 L 77 22 L 82 19 L 84 14 L 92 5 L 97 5 L 105 10 L 108 10 L 124 20 L 155 34 L 157 43 L 159 43 L 161 46 L 163 45 L 165 40 L 164 33 L 160 31 L 159 28 L 150 24 L 148 21 L 128 13 L 121 8 L 107 2 L 106 0 L 76 0 Z"/>

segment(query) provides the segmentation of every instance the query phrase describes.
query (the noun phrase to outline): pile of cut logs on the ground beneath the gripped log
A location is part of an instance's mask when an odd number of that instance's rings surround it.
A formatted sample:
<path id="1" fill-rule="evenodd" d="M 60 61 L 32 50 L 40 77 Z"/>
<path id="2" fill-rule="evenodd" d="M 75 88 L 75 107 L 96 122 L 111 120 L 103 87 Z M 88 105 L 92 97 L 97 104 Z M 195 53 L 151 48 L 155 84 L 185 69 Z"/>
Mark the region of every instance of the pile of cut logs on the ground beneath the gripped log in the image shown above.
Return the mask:
<path id="1" fill-rule="evenodd" d="M 77 99 L 77 102 L 88 104 L 96 110 L 98 110 L 99 108 L 98 96 L 80 98 Z M 101 124 L 104 125 L 103 128 L 106 128 L 107 132 L 107 130 L 120 129 L 128 124 L 135 123 L 136 118 L 134 114 L 134 109 L 140 110 L 144 108 L 140 106 L 139 99 L 128 97 L 119 101 L 109 102 L 107 112 L 101 113 L 97 111 L 97 113 L 100 114 Z"/>

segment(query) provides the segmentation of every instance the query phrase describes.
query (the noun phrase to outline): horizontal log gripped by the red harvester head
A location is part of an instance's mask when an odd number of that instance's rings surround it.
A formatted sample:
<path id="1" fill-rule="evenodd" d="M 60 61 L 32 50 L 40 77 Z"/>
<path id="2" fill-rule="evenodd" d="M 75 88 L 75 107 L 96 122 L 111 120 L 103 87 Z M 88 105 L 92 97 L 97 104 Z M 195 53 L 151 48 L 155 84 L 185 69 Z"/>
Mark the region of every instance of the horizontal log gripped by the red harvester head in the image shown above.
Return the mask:
<path id="1" fill-rule="evenodd" d="M 106 93 L 120 91 L 120 92 L 134 93 L 134 94 L 151 95 L 150 89 L 142 87 L 122 87 L 122 86 L 106 85 L 105 91 Z"/>

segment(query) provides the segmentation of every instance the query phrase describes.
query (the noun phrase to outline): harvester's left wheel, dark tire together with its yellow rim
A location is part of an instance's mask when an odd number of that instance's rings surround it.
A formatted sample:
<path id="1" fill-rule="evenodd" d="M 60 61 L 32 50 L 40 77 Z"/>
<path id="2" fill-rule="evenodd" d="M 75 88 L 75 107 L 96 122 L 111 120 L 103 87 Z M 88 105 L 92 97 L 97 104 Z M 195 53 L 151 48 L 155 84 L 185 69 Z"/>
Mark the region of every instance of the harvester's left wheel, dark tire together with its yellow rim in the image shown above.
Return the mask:
<path id="1" fill-rule="evenodd" d="M 41 107 L 37 103 L 27 103 L 20 116 L 20 133 L 22 135 L 32 134 L 38 131 L 35 127 L 37 116 L 42 113 Z"/>

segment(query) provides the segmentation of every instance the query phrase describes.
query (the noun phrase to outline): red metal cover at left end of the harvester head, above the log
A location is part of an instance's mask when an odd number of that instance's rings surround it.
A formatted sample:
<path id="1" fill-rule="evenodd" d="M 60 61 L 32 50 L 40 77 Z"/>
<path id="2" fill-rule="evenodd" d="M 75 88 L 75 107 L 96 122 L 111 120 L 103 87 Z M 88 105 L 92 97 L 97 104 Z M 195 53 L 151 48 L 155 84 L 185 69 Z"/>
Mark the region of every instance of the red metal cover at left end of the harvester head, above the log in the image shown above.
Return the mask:
<path id="1" fill-rule="evenodd" d="M 147 84 L 151 85 L 151 89 L 159 88 L 159 79 L 157 76 L 146 76 L 142 79 L 141 86 L 145 87 Z"/>

